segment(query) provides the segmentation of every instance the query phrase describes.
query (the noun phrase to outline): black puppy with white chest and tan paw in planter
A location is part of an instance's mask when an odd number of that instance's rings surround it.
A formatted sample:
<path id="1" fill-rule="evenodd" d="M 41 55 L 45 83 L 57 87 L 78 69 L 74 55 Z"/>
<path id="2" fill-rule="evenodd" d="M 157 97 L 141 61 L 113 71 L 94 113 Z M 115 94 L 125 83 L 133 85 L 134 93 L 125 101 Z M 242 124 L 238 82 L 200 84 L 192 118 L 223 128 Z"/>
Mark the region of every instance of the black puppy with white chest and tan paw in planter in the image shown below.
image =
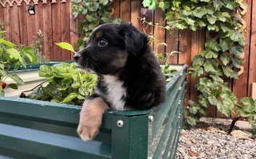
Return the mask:
<path id="1" fill-rule="evenodd" d="M 98 76 L 95 94 L 81 109 L 77 133 L 84 141 L 98 134 L 109 108 L 150 109 L 166 98 L 165 80 L 148 37 L 131 23 L 98 26 L 74 60 L 78 68 Z"/>

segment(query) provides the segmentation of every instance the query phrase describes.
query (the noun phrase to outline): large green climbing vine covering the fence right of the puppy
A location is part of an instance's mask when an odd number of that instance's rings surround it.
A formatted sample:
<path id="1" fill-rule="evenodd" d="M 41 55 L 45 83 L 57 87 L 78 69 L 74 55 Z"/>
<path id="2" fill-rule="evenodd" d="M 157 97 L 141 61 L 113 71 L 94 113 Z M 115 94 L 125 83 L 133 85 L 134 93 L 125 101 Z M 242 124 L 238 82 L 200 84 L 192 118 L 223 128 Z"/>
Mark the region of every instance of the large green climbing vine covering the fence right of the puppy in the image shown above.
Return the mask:
<path id="1" fill-rule="evenodd" d="M 251 98 L 238 99 L 227 87 L 223 78 L 238 79 L 236 68 L 241 68 L 244 30 L 238 19 L 232 14 L 241 13 L 240 1 L 234 0 L 144 0 L 144 6 L 150 10 L 160 7 L 162 10 L 170 8 L 166 14 L 165 29 L 207 29 L 219 39 L 211 38 L 205 43 L 205 50 L 194 57 L 190 74 L 197 79 L 195 87 L 201 93 L 198 102 L 189 101 L 187 122 L 195 125 L 202 114 L 206 114 L 207 107 L 215 105 L 225 114 L 239 114 L 248 117 L 253 122 L 256 116 L 256 102 Z M 242 14 L 241 14 L 242 15 Z M 218 61 L 218 62 L 217 62 Z M 232 68 L 234 66 L 234 68 Z"/>

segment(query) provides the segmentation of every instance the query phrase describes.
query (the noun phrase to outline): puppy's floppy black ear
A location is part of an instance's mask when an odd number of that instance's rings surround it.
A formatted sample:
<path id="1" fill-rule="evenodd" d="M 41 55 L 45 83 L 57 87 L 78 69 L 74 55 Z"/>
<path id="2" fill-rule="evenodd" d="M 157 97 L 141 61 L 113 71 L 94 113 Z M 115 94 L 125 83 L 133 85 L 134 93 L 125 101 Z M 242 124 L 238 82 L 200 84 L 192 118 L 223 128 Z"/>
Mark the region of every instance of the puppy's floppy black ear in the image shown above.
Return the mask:
<path id="1" fill-rule="evenodd" d="M 124 38 L 126 49 L 133 54 L 148 43 L 148 36 L 136 29 L 132 23 L 121 23 L 119 33 Z"/>

